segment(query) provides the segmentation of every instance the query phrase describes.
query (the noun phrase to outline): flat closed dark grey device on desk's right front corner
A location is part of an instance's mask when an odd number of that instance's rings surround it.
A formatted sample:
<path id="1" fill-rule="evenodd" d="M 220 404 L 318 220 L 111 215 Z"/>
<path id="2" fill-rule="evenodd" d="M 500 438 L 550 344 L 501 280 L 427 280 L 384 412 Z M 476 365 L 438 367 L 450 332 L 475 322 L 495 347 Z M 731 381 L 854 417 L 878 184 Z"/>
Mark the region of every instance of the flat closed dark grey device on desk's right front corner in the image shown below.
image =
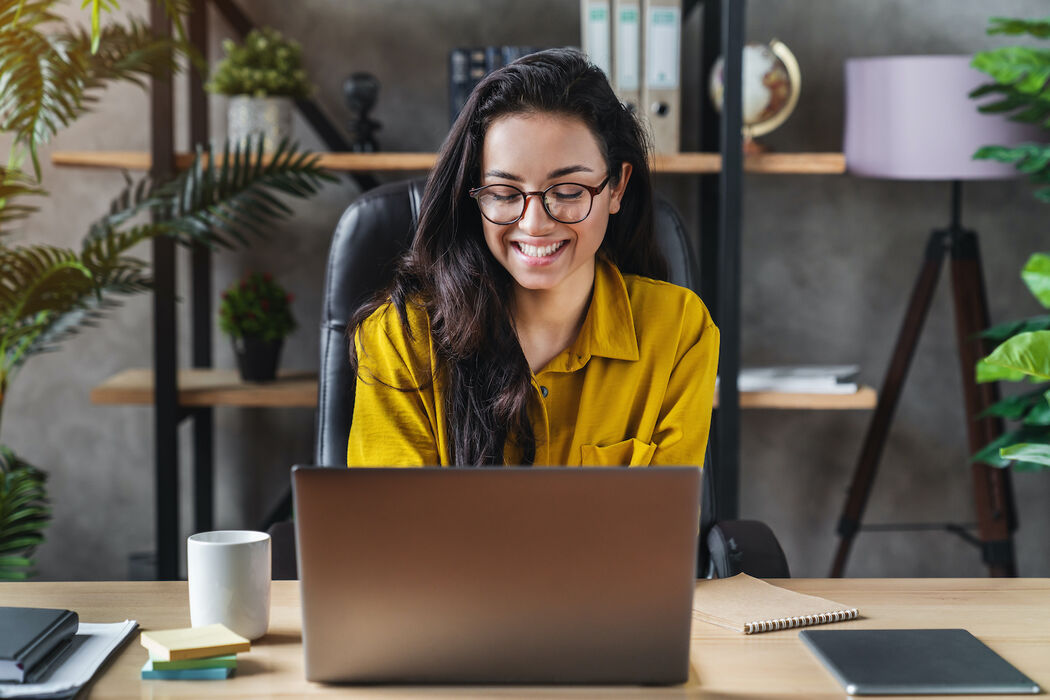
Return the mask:
<path id="1" fill-rule="evenodd" d="M 966 630 L 803 630 L 798 636 L 849 695 L 1040 692 Z"/>

